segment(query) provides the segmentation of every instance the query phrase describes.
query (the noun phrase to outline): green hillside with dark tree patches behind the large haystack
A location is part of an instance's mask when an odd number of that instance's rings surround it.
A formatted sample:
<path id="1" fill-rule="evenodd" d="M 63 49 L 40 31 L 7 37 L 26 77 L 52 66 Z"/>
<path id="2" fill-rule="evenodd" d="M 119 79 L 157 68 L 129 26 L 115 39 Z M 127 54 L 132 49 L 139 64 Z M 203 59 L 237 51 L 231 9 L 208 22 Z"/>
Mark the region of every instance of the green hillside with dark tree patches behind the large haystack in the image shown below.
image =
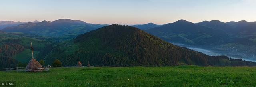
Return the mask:
<path id="1" fill-rule="evenodd" d="M 34 57 L 43 59 L 52 49 L 54 42 L 46 41 L 45 37 L 30 38 L 22 33 L 0 32 L 0 68 L 16 67 L 18 62 L 27 63 L 32 56 L 30 42 L 33 43 Z"/>

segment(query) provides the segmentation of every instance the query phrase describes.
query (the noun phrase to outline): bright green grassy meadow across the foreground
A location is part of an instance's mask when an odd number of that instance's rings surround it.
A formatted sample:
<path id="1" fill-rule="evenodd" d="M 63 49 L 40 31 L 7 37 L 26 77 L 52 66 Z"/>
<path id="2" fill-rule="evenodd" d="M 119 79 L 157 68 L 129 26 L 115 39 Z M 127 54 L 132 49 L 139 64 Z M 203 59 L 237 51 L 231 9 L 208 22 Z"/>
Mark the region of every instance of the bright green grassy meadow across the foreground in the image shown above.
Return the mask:
<path id="1" fill-rule="evenodd" d="M 18 87 L 256 87 L 256 67 L 84 67 L 0 72 Z"/>

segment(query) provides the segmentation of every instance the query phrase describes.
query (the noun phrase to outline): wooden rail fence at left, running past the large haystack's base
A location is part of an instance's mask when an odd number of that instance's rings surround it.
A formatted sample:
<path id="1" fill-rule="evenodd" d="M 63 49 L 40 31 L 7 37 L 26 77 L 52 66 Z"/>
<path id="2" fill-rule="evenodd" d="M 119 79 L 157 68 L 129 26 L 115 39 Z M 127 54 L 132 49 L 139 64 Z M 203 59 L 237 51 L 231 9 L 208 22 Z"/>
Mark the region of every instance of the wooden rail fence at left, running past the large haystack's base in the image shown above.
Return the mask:
<path id="1" fill-rule="evenodd" d="M 16 68 L 4 68 L 4 69 L 0 69 L 0 71 L 26 71 L 26 72 L 31 72 L 31 71 L 49 71 L 49 67 L 43 67 L 43 68 L 38 68 L 38 69 L 26 69 L 25 67 L 16 67 Z"/>

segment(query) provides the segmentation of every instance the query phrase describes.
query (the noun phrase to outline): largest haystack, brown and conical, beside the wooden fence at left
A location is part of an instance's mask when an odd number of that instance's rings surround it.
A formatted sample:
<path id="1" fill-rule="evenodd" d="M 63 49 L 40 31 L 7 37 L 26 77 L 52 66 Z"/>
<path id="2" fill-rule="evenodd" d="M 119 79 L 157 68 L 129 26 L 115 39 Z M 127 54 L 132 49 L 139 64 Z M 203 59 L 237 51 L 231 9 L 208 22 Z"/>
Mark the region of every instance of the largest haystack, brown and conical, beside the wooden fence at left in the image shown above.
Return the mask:
<path id="1" fill-rule="evenodd" d="M 36 61 L 36 59 L 34 59 L 33 57 L 29 61 L 28 65 L 26 66 L 27 71 L 29 71 L 30 69 L 35 69 L 30 71 L 41 71 L 42 68 L 43 68 L 42 65 L 38 61 Z"/>

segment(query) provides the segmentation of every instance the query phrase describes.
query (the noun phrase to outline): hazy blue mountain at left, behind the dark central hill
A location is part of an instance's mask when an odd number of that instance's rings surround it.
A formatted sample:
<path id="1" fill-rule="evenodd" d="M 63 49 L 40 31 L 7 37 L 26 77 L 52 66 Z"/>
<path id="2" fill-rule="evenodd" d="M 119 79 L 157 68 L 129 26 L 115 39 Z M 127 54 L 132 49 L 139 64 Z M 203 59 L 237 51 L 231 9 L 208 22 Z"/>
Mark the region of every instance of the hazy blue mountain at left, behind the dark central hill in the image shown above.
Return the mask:
<path id="1" fill-rule="evenodd" d="M 4 28 L 5 32 L 23 32 L 40 36 L 53 36 L 74 38 L 76 35 L 95 30 L 106 25 L 88 24 L 80 20 L 59 19 L 53 22 L 42 21 L 38 23 L 26 23 L 18 26 Z M 70 35 L 72 34 L 72 35 Z"/>

